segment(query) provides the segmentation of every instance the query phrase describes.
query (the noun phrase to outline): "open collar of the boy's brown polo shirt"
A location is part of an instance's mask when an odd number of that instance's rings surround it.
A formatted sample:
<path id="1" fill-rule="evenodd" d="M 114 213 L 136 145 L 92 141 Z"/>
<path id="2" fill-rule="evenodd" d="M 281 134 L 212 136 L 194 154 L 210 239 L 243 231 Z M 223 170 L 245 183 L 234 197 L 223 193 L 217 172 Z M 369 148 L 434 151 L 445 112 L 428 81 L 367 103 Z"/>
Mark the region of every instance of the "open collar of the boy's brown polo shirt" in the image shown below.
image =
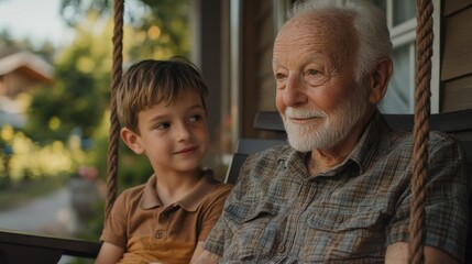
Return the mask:
<path id="1" fill-rule="evenodd" d="M 155 190 L 156 180 L 156 176 L 153 175 L 144 186 L 143 196 L 140 202 L 141 208 L 144 210 L 163 206 Z M 198 180 L 190 193 L 182 200 L 176 201 L 171 206 L 180 206 L 186 211 L 196 211 L 205 196 L 213 189 L 216 184 L 218 184 L 218 182 L 213 178 L 212 170 L 204 169 L 204 176 Z"/>

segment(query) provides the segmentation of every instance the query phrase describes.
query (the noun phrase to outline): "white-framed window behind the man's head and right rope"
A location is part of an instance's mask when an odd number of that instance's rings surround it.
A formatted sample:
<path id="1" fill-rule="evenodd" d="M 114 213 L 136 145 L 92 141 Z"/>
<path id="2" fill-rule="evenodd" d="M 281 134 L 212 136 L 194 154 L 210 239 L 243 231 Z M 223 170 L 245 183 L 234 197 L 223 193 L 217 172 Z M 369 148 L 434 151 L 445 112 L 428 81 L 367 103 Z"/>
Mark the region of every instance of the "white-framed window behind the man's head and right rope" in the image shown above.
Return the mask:
<path id="1" fill-rule="evenodd" d="M 413 113 L 415 110 L 416 2 L 411 0 L 373 0 L 386 16 L 393 44 L 394 74 L 378 108 L 384 113 Z M 439 11 L 433 1 L 435 46 L 431 76 L 431 112 L 439 109 Z"/>

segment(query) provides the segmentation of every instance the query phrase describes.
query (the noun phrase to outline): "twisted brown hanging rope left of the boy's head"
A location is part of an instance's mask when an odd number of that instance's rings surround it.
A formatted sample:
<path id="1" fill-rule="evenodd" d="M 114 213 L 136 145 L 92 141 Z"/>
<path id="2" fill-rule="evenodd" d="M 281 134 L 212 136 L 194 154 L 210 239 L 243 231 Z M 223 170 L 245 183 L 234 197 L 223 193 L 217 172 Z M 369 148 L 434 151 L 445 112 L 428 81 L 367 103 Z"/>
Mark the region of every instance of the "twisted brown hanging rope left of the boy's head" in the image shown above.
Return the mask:
<path id="1" fill-rule="evenodd" d="M 118 150 L 120 122 L 117 114 L 116 91 L 121 82 L 123 62 L 123 10 L 124 0 L 114 0 L 114 28 L 113 28 L 113 62 L 112 80 L 110 87 L 110 131 L 108 145 L 108 172 L 107 172 L 107 200 L 105 204 L 105 220 L 107 220 L 114 199 L 117 198 L 118 178 Z"/>

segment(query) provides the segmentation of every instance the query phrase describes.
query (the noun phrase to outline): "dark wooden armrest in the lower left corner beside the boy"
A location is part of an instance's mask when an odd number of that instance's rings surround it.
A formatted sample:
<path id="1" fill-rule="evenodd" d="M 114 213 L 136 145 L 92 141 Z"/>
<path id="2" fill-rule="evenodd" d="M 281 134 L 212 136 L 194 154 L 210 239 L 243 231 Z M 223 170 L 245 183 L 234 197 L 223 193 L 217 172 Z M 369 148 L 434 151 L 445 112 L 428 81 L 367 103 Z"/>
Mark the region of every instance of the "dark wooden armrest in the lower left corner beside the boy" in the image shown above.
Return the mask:
<path id="1" fill-rule="evenodd" d="M 0 263 L 57 263 L 63 255 L 96 258 L 99 242 L 0 230 Z"/>

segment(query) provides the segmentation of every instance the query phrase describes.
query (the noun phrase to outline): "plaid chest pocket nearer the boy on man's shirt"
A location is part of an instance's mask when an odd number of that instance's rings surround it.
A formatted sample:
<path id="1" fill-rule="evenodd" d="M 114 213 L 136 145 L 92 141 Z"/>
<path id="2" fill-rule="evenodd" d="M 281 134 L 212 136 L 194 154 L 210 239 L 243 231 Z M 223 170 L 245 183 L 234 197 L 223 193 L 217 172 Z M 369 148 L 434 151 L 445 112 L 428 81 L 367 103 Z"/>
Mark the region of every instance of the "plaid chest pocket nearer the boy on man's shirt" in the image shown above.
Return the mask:
<path id="1" fill-rule="evenodd" d="M 228 224 L 224 260 L 251 261 L 271 253 L 277 238 L 279 208 L 270 201 L 230 204 L 224 209 Z"/>

